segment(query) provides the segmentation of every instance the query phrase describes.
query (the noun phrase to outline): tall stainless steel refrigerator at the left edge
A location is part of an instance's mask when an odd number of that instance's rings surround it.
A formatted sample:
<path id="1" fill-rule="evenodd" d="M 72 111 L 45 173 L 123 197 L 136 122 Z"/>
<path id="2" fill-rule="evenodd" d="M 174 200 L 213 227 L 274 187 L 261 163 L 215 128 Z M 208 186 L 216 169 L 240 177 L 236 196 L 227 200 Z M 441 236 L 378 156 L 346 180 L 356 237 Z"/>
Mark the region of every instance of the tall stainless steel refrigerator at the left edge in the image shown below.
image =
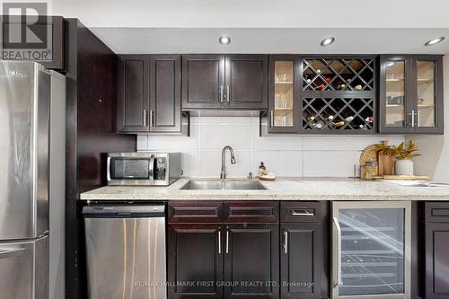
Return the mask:
<path id="1" fill-rule="evenodd" d="M 65 85 L 0 62 L 0 299 L 64 297 Z"/>

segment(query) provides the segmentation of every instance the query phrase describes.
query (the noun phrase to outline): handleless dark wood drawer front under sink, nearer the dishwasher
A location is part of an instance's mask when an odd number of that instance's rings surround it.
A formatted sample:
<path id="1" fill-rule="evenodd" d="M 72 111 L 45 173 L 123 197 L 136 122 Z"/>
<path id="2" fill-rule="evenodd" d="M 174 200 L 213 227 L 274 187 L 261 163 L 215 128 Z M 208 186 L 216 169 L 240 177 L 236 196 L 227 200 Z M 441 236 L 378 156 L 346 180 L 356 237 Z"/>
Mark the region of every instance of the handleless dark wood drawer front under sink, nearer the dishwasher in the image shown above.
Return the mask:
<path id="1" fill-rule="evenodd" d="M 221 223 L 222 201 L 170 201 L 169 223 Z"/>

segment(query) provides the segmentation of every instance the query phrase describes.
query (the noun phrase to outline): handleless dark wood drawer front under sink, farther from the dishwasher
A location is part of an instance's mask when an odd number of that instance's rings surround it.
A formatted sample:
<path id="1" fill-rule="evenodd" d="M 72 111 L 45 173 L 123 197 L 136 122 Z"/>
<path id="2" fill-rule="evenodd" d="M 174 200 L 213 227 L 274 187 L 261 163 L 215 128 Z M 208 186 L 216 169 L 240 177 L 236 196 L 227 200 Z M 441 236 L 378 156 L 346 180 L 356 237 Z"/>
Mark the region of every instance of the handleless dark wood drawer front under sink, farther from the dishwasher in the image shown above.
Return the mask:
<path id="1" fill-rule="evenodd" d="M 225 223 L 277 223 L 278 201 L 226 201 Z"/>

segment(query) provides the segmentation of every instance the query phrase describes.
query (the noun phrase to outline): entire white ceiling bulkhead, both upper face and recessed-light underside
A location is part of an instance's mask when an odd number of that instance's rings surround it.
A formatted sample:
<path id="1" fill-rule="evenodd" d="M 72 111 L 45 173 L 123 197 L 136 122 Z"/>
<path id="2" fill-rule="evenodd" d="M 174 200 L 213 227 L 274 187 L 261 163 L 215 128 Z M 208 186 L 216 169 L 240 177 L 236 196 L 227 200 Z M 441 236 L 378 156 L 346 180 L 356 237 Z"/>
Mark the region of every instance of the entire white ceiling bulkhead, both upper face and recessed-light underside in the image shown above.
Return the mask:
<path id="1" fill-rule="evenodd" d="M 449 53 L 447 0 L 53 0 L 117 53 Z M 232 42 L 218 43 L 222 34 Z M 336 41 L 321 48 L 320 41 Z M 424 42 L 446 36 L 445 42 Z"/>

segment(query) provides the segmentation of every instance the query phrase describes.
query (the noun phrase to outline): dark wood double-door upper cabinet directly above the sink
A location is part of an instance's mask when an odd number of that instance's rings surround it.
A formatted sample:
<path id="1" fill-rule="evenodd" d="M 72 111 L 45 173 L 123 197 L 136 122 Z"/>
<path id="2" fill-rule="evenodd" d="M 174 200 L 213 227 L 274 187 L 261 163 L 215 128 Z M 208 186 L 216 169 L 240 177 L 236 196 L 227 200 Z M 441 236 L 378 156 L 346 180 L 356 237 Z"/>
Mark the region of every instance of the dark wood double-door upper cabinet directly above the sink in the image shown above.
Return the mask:
<path id="1" fill-rule="evenodd" d="M 266 110 L 267 55 L 182 57 L 182 109 Z"/>

